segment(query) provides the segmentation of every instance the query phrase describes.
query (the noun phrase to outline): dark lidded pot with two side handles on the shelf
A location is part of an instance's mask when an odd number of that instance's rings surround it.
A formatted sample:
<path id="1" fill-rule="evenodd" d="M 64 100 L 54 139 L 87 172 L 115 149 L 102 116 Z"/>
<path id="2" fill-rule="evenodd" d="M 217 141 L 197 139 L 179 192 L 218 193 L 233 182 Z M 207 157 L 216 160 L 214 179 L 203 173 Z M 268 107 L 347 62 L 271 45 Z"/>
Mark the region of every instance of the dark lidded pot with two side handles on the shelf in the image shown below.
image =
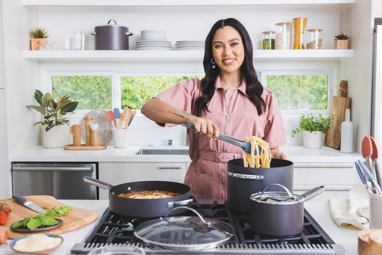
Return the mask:
<path id="1" fill-rule="evenodd" d="M 114 21 L 115 24 L 110 24 Z M 94 28 L 95 49 L 129 49 L 129 29 L 118 25 L 114 19 L 109 20 L 106 25 Z"/>

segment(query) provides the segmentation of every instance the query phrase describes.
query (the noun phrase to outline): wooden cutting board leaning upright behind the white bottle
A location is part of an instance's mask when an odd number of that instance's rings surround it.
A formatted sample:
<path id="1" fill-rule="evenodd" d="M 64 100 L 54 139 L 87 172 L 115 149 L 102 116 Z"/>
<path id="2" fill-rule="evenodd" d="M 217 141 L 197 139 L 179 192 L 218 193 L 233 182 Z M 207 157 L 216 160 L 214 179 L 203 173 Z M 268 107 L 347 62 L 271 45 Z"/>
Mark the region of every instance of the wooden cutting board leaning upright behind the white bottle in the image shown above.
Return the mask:
<path id="1" fill-rule="evenodd" d="M 334 119 L 330 125 L 330 129 L 325 134 L 325 145 L 339 149 L 341 145 L 341 124 L 345 121 L 345 111 L 350 106 L 350 98 L 345 97 L 347 91 L 347 81 L 340 82 L 338 95 L 333 96 L 330 105 L 329 116 L 334 114 Z"/>

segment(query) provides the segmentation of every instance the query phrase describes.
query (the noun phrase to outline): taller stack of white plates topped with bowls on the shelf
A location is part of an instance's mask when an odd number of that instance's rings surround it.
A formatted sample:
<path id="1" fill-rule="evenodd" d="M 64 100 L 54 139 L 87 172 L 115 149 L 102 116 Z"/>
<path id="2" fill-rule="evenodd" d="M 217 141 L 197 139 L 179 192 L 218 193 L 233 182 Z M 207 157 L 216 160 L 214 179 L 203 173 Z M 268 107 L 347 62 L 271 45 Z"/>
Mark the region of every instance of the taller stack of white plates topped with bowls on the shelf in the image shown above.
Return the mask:
<path id="1" fill-rule="evenodd" d="M 169 50 L 171 42 L 166 41 L 167 33 L 164 30 L 142 30 L 142 40 L 137 41 L 139 50 Z"/>

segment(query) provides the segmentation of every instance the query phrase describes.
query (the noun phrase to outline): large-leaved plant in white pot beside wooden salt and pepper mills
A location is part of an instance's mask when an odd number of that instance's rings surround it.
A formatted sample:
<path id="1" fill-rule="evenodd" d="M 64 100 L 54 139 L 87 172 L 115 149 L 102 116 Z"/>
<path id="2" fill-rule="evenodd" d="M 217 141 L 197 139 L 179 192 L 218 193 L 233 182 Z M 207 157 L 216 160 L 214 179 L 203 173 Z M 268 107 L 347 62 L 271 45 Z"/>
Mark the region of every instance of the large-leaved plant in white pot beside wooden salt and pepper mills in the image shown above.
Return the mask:
<path id="1" fill-rule="evenodd" d="M 60 148 L 66 143 L 66 125 L 69 125 L 68 114 L 74 113 L 78 102 L 70 99 L 69 95 L 60 96 L 56 101 L 52 99 L 49 92 L 42 94 L 40 90 L 35 90 L 34 98 L 38 105 L 28 106 L 44 115 L 43 121 L 38 121 L 34 125 L 45 126 L 42 132 L 43 146 L 45 148 Z"/>

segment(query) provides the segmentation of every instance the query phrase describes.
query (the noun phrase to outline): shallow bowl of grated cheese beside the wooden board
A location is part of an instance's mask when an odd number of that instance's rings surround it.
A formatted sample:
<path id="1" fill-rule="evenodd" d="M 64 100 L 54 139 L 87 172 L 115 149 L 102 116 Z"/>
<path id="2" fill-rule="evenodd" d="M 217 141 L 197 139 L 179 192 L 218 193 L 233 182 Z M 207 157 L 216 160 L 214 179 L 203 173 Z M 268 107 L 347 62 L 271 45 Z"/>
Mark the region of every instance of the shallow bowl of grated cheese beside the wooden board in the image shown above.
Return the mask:
<path id="1" fill-rule="evenodd" d="M 56 250 L 64 239 L 54 234 L 31 234 L 16 238 L 10 243 L 12 250 L 24 254 L 49 254 Z"/>

